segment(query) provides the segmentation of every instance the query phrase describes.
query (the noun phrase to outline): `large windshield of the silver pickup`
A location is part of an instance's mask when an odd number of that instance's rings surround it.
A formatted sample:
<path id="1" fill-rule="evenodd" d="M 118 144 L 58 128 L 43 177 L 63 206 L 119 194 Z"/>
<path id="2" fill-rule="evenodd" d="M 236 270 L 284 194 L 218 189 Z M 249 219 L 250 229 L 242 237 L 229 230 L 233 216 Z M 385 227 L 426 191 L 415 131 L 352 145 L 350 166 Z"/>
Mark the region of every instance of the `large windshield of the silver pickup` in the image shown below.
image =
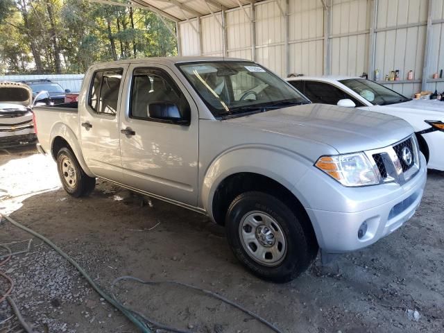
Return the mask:
<path id="1" fill-rule="evenodd" d="M 310 103 L 291 85 L 254 62 L 194 62 L 178 67 L 214 117 Z"/>

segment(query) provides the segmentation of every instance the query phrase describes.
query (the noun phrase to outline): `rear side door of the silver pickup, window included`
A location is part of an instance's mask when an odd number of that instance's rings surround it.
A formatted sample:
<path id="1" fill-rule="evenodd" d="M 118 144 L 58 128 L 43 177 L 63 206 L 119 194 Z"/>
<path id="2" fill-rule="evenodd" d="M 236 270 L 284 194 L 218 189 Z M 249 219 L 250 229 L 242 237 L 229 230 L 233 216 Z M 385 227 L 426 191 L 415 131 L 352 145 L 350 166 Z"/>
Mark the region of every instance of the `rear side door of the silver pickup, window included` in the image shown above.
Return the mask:
<path id="1" fill-rule="evenodd" d="M 83 156 L 96 176 L 123 180 L 120 157 L 119 105 L 127 65 L 98 68 L 80 101 L 80 137 Z"/>

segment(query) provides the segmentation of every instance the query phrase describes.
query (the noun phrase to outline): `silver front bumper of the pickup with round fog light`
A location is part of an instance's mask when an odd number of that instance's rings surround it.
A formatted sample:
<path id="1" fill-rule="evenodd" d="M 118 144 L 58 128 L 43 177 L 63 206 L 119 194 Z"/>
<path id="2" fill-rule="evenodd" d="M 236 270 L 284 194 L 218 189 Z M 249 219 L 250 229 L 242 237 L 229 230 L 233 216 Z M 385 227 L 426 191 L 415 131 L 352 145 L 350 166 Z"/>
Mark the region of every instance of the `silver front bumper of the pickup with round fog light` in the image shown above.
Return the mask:
<path id="1" fill-rule="evenodd" d="M 327 253 L 343 253 L 364 248 L 385 237 L 408 221 L 420 205 L 427 180 L 427 164 L 421 154 L 420 170 L 404 185 L 361 187 L 356 196 L 347 189 L 348 207 L 366 207 L 348 212 L 305 207 L 314 225 L 319 246 Z M 388 187 L 390 186 L 390 187 Z M 363 196 L 364 194 L 364 196 Z M 358 230 L 364 221 L 368 230 L 359 239 Z"/>

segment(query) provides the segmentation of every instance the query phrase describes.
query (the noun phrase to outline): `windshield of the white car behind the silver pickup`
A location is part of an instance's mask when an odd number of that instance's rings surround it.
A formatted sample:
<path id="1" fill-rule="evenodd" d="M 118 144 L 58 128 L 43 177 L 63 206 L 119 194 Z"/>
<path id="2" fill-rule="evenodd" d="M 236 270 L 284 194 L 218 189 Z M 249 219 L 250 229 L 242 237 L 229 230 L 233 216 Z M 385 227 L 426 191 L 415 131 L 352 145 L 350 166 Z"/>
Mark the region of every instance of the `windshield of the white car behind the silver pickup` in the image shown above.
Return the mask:
<path id="1" fill-rule="evenodd" d="M 379 85 L 364 78 L 350 78 L 339 80 L 339 82 L 352 89 L 361 97 L 364 97 L 373 105 L 388 105 L 410 101 L 406 96 L 402 96 L 398 92 L 384 87 L 384 85 Z"/>

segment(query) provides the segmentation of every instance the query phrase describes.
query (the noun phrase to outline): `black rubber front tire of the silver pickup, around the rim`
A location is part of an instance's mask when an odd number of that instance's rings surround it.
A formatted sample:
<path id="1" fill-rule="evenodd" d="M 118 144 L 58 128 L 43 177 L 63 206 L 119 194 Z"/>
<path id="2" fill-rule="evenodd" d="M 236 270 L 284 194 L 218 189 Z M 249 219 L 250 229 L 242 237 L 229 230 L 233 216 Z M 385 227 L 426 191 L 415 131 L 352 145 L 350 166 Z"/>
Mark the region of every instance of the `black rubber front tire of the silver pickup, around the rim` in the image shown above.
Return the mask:
<path id="1" fill-rule="evenodd" d="M 278 223 L 279 228 L 275 227 L 275 230 L 284 234 L 285 254 L 278 254 L 277 257 L 282 256 L 282 259 L 273 266 L 258 262 L 253 253 L 248 253 L 248 245 L 241 236 L 241 234 L 244 234 L 241 223 L 246 223 L 245 216 L 262 213 L 271 216 L 271 221 L 274 220 Z M 253 216 L 253 219 L 255 219 L 255 216 Z M 318 245 L 314 234 L 307 234 L 309 231 L 304 228 L 303 223 L 307 223 L 305 219 L 305 214 L 298 212 L 298 209 L 295 208 L 292 210 L 275 196 L 258 191 L 246 192 L 234 198 L 230 207 L 228 207 L 225 220 L 228 243 L 237 259 L 257 277 L 277 283 L 289 282 L 306 271 L 318 253 Z M 261 220 L 259 219 L 259 221 Z M 246 227 L 248 225 L 242 228 Z M 259 228 L 260 226 L 256 228 L 255 236 Z M 253 231 L 248 230 L 248 232 Z M 273 235 L 274 238 L 275 235 Z"/>

